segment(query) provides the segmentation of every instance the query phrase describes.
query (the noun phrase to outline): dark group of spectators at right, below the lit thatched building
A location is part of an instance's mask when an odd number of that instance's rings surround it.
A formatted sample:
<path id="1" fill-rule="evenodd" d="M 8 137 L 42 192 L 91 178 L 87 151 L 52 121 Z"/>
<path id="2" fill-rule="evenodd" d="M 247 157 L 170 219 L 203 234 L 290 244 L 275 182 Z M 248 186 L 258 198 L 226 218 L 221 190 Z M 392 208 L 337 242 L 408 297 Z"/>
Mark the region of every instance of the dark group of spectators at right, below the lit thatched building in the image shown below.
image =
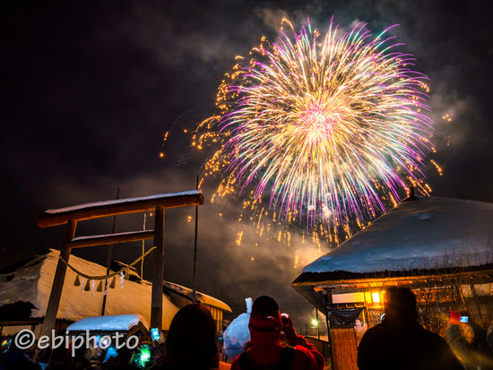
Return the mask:
<path id="1" fill-rule="evenodd" d="M 473 323 L 451 323 L 444 339 L 418 319 L 414 293 L 388 288 L 384 320 L 359 342 L 359 370 L 493 370 L 492 325 L 487 337 Z"/>

